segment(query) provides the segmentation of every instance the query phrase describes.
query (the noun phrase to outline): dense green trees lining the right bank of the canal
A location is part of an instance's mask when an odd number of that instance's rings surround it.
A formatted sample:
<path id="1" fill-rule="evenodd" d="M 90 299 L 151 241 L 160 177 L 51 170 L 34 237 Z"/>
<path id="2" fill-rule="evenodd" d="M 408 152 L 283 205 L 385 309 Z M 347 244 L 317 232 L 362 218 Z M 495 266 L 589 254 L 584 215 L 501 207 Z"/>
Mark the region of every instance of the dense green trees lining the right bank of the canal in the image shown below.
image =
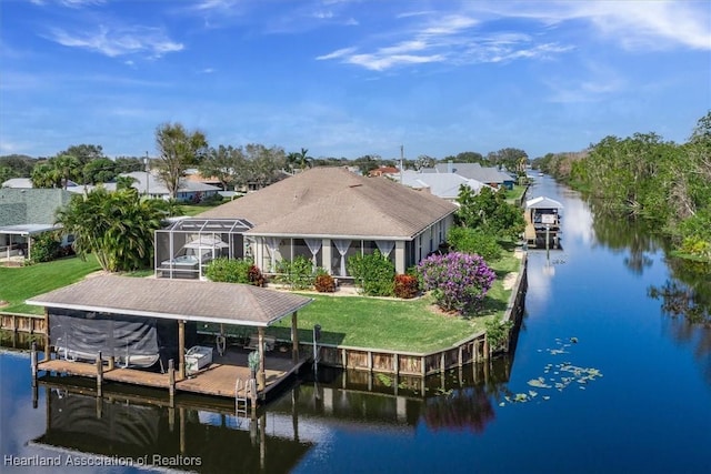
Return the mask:
<path id="1" fill-rule="evenodd" d="M 711 259 L 711 111 L 681 144 L 657 133 L 610 135 L 533 165 L 582 190 L 602 212 L 643 219 L 682 253 Z"/>

